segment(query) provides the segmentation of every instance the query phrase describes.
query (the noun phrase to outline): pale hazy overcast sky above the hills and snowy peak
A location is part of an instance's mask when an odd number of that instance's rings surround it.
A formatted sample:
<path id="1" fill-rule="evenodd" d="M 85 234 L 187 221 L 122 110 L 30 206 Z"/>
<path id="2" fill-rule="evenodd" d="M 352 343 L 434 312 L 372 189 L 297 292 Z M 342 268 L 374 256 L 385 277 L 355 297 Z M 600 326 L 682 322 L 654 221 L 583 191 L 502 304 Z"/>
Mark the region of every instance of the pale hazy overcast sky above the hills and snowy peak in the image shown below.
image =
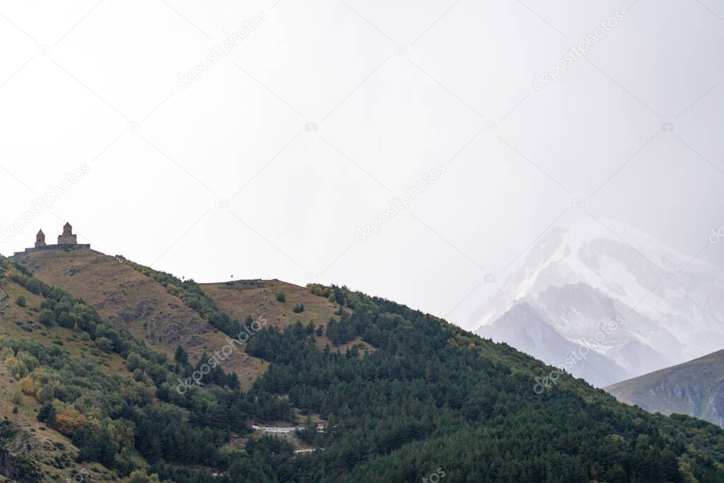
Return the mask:
<path id="1" fill-rule="evenodd" d="M 466 328 L 586 211 L 724 264 L 720 2 L 275 1 L 1 1 L 0 252 L 70 221 Z"/>

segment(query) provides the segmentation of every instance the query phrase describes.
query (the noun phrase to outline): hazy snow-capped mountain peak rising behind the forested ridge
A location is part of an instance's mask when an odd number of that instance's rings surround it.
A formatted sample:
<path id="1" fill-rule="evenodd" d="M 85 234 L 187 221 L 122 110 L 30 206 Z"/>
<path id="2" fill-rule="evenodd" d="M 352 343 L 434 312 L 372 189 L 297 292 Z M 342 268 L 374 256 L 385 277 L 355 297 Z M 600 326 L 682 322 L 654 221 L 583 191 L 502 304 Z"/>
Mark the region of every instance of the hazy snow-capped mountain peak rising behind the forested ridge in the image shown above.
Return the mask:
<path id="1" fill-rule="evenodd" d="M 555 227 L 472 318 L 484 337 L 613 384 L 724 348 L 724 271 L 692 258 L 610 220 Z M 565 364 L 571 343 L 591 355 Z"/>

